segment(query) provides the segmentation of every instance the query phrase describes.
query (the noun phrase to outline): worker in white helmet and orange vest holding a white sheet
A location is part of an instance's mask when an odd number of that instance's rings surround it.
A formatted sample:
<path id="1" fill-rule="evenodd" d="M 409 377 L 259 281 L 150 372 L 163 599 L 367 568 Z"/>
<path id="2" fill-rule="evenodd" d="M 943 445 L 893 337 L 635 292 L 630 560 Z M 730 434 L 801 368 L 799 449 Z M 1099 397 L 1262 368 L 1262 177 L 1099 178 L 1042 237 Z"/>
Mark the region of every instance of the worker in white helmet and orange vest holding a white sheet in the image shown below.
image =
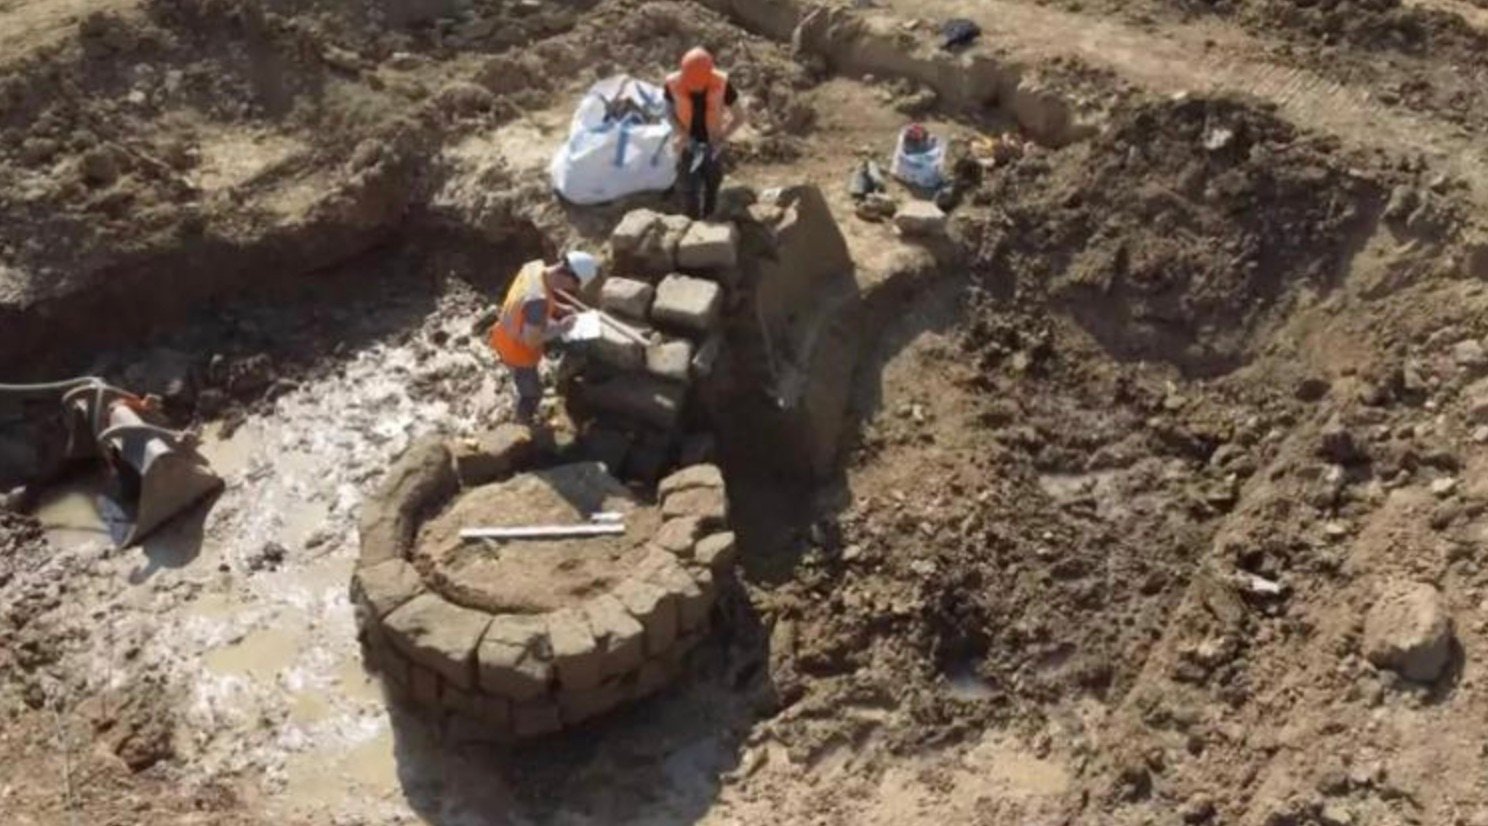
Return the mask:
<path id="1" fill-rule="evenodd" d="M 557 263 L 527 262 L 507 287 L 501 314 L 491 326 L 491 348 L 510 368 L 516 382 L 516 421 L 531 424 L 536 418 L 543 400 L 543 382 L 537 377 L 543 348 L 573 326 L 574 316 L 559 313 L 558 292 L 582 290 L 598 274 L 600 262 L 592 254 L 573 252 Z"/>

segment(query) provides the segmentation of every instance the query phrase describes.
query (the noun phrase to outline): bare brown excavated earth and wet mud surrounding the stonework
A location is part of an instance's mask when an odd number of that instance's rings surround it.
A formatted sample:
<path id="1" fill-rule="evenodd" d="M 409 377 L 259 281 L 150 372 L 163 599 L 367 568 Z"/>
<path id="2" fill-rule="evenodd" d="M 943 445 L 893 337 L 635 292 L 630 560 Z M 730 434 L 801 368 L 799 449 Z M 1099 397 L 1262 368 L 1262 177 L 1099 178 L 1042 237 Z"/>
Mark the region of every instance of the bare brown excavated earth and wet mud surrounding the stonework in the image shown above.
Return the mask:
<path id="1" fill-rule="evenodd" d="M 510 417 L 506 280 L 659 204 L 558 202 L 568 113 L 693 43 L 731 182 L 857 265 L 839 469 L 719 445 L 743 586 L 664 695 L 440 731 L 362 665 L 357 506 Z M 113 551 L 0 402 L 0 822 L 1488 825 L 1485 46 L 1475 0 L 0 0 L 0 378 L 158 391 L 228 482 Z M 911 118 L 929 244 L 848 195 Z"/>

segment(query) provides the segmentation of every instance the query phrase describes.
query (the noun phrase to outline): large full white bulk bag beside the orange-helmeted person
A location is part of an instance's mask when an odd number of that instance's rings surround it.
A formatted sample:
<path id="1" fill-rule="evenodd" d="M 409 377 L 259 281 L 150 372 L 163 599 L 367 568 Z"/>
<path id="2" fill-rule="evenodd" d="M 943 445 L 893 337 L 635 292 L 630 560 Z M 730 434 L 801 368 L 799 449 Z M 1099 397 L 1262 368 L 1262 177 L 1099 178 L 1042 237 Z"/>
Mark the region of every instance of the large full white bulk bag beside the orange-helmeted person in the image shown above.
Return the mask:
<path id="1" fill-rule="evenodd" d="M 623 100 L 634 103 L 634 109 L 609 119 L 607 112 Z M 661 86 L 628 74 L 589 86 L 549 171 L 554 189 L 574 204 L 603 204 L 635 192 L 670 189 L 677 180 L 677 153 Z"/>

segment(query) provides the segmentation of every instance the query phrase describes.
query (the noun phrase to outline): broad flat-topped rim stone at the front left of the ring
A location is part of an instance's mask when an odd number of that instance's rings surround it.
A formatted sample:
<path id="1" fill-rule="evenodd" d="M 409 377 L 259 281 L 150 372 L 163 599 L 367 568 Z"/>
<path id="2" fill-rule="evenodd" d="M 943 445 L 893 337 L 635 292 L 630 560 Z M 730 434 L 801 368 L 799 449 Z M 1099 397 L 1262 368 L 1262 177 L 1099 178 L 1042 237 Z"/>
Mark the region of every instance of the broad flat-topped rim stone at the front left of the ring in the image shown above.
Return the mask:
<path id="1" fill-rule="evenodd" d="M 418 665 L 457 688 L 475 686 L 475 650 L 491 615 L 460 607 L 437 594 L 421 594 L 387 615 L 387 635 Z"/>

